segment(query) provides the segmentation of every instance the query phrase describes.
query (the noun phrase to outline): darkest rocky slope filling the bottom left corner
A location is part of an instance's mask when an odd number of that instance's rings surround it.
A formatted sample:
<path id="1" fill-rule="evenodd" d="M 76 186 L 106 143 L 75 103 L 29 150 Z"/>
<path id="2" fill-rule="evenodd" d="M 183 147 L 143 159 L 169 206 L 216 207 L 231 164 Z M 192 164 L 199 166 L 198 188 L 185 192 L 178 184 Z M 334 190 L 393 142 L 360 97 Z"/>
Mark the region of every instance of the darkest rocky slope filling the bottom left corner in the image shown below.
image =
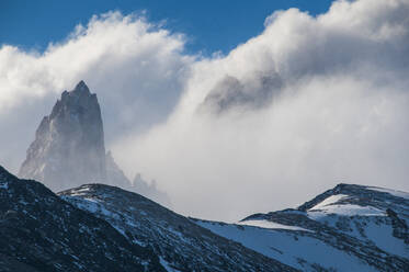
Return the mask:
<path id="1" fill-rule="evenodd" d="M 0 271 L 166 271 L 150 250 L 0 167 Z"/>

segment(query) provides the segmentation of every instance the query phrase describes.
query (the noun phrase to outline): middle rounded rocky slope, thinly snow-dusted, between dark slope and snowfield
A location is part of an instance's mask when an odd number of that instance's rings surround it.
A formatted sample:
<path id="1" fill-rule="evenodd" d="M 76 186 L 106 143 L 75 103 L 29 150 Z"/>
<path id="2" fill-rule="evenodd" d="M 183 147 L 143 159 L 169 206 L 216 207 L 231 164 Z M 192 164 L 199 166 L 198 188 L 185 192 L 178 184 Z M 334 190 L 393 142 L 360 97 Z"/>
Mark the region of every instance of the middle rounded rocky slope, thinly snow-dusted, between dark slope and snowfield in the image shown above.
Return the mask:
<path id="1" fill-rule="evenodd" d="M 151 247 L 168 271 L 295 271 L 136 193 L 88 184 L 59 195 L 134 243 Z"/>

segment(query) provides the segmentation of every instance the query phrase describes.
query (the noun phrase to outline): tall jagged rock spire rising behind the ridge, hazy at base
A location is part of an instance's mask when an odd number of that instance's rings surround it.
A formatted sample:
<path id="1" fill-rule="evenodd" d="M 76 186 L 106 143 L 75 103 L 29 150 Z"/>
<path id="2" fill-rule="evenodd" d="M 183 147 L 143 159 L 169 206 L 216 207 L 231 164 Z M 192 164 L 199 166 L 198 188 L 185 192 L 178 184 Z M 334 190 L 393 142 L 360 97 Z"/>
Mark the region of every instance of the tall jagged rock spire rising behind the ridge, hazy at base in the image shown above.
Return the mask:
<path id="1" fill-rule="evenodd" d="M 19 175 L 58 191 L 87 182 L 104 182 L 105 147 L 96 94 L 83 81 L 54 105 L 37 128 Z"/>

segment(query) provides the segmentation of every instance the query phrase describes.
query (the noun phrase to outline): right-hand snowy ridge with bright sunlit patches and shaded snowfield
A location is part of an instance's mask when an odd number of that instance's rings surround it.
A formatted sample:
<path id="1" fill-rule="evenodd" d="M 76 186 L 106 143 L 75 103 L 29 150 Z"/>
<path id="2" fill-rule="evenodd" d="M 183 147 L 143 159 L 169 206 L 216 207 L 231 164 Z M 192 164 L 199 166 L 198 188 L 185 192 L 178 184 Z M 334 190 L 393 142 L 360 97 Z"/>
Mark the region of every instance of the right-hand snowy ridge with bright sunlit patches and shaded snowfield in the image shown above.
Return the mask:
<path id="1" fill-rule="evenodd" d="M 195 222 L 303 271 L 409 271 L 408 194 L 339 184 L 297 209 Z"/>

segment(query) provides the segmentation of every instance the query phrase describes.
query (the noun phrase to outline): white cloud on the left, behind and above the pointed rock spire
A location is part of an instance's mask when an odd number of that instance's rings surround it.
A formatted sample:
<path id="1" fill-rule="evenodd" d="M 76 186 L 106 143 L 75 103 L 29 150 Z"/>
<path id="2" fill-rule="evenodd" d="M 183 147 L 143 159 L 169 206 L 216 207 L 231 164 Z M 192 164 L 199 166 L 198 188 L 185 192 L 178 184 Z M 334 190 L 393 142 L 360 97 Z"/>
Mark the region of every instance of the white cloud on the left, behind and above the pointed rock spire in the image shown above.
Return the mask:
<path id="1" fill-rule="evenodd" d="M 0 162 L 16 171 L 42 117 L 81 79 L 98 92 L 109 143 L 164 118 L 194 60 L 182 54 L 183 46 L 182 35 L 118 12 L 93 16 L 45 53 L 3 45 Z"/>

